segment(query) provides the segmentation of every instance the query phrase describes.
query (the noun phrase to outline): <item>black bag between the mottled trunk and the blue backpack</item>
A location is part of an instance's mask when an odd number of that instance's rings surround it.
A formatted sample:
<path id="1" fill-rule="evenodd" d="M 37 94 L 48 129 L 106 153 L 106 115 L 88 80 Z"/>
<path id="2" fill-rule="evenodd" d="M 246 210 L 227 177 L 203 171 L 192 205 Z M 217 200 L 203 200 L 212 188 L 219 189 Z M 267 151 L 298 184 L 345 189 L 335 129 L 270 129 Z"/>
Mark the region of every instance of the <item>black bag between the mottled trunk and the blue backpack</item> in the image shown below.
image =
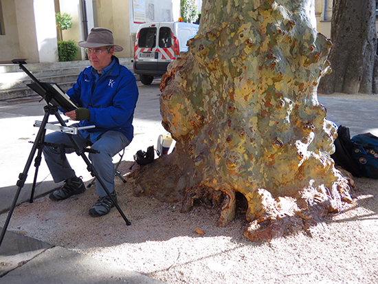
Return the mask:
<path id="1" fill-rule="evenodd" d="M 354 145 L 351 141 L 351 134 L 348 127 L 340 127 L 337 129 L 337 138 L 334 142 L 335 153 L 331 155 L 337 166 L 346 169 L 355 177 L 362 177 L 362 170 L 359 163 L 353 158 Z"/>

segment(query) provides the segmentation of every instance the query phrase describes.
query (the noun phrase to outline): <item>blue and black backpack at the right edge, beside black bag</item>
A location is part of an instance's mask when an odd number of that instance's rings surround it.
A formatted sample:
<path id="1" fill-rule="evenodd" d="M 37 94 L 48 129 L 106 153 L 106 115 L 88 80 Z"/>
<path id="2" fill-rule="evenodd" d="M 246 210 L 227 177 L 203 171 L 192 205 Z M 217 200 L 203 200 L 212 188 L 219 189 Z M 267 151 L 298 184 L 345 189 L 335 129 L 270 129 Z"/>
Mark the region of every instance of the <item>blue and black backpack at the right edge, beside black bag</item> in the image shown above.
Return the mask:
<path id="1" fill-rule="evenodd" d="M 378 179 L 378 137 L 371 133 L 353 136 L 353 160 L 364 177 Z"/>

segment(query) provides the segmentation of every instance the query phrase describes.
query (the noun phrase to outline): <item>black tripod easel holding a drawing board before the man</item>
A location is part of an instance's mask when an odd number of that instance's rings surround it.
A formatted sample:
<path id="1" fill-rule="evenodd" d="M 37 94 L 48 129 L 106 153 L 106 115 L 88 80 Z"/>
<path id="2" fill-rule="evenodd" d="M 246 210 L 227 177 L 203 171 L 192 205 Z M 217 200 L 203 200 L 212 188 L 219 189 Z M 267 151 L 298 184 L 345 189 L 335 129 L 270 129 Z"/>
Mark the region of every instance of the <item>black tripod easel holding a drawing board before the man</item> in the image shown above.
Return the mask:
<path id="1" fill-rule="evenodd" d="M 41 83 L 41 82 L 39 82 L 29 72 L 29 70 L 27 70 L 25 68 L 25 66 L 23 66 L 24 64 L 26 64 L 25 59 L 14 59 L 14 60 L 12 60 L 12 63 L 19 64 L 19 67 L 28 76 L 30 76 L 30 78 L 32 78 L 32 80 L 34 80 L 34 82 L 35 82 L 34 84 L 28 84 L 27 86 L 30 87 L 31 89 L 34 89 L 34 91 L 36 91 L 40 96 L 42 96 L 42 98 L 45 100 L 45 102 L 47 103 L 47 105 L 43 108 L 45 110 L 45 115 L 43 116 L 43 120 L 41 122 L 38 122 L 38 125 L 34 124 L 34 126 L 38 126 L 39 127 L 39 130 L 38 130 L 38 133 L 36 135 L 36 139 L 34 140 L 32 151 L 30 151 L 29 157 L 27 158 L 27 162 L 25 164 L 25 168 L 23 169 L 23 172 L 19 174 L 19 180 L 16 183 L 16 186 L 18 186 L 18 188 L 17 188 L 17 191 L 16 191 L 16 195 L 14 196 L 12 206 L 10 207 L 10 210 L 8 212 L 8 217 L 7 217 L 6 221 L 5 221 L 3 230 L 1 232 L 0 246 L 1 246 L 1 243 L 3 242 L 4 235 L 5 235 L 5 232 L 6 232 L 7 228 L 8 228 L 8 225 L 9 225 L 9 222 L 10 222 L 10 218 L 12 217 L 14 208 L 16 207 L 17 200 L 19 199 L 19 195 L 21 193 L 21 189 L 25 185 L 25 180 L 26 180 L 26 177 L 27 177 L 27 172 L 30 169 L 30 165 L 32 164 L 33 157 L 36 154 L 36 151 L 38 149 L 38 153 L 37 153 L 36 158 L 34 160 L 34 166 L 36 167 L 36 171 L 34 173 L 34 181 L 33 181 L 33 185 L 32 185 L 32 193 L 30 195 L 30 203 L 33 202 L 34 190 L 35 190 L 35 187 L 36 187 L 36 177 L 38 175 L 38 167 L 41 164 L 42 149 L 43 149 L 43 146 L 45 146 L 45 145 L 51 146 L 51 144 L 45 143 L 46 129 L 52 129 L 52 130 L 55 130 L 55 131 L 61 131 L 63 133 L 67 133 L 67 135 L 69 135 L 69 138 L 70 138 L 71 142 L 74 144 L 74 146 L 76 146 L 75 147 L 76 153 L 78 155 L 80 155 L 82 157 L 82 159 L 84 160 L 85 164 L 87 164 L 87 170 L 91 173 L 91 175 L 93 177 L 96 177 L 96 180 L 104 188 L 105 192 L 110 197 L 111 201 L 113 201 L 113 204 L 114 204 L 115 208 L 117 208 L 118 212 L 120 212 L 120 215 L 122 216 L 122 218 L 126 222 L 126 225 L 130 226 L 131 225 L 130 221 L 126 218 L 126 216 L 122 212 L 120 206 L 118 206 L 117 201 L 115 201 L 115 199 L 111 196 L 111 194 L 109 193 L 109 190 L 104 185 L 104 182 L 102 181 L 102 179 L 100 179 L 100 177 L 98 176 L 96 168 L 94 168 L 94 166 L 89 161 L 88 157 L 85 155 L 85 152 L 89 152 L 89 151 L 93 151 L 93 150 L 91 150 L 91 149 L 80 149 L 80 147 L 78 146 L 78 144 L 75 142 L 74 138 L 71 137 L 71 135 L 75 135 L 78 130 L 84 129 L 84 128 L 80 128 L 80 127 L 67 127 L 67 125 L 65 124 L 65 121 L 60 117 L 60 114 L 58 113 L 58 107 L 62 108 L 65 111 L 71 110 L 70 109 L 71 105 L 69 105 L 69 102 L 67 102 L 67 100 L 56 90 L 56 88 L 54 89 L 54 87 L 52 87 L 52 85 L 50 85 L 48 83 Z M 58 123 L 60 125 L 52 125 L 51 123 L 48 123 L 50 115 L 54 115 L 58 119 Z M 98 151 L 93 151 L 92 153 L 98 153 Z"/>

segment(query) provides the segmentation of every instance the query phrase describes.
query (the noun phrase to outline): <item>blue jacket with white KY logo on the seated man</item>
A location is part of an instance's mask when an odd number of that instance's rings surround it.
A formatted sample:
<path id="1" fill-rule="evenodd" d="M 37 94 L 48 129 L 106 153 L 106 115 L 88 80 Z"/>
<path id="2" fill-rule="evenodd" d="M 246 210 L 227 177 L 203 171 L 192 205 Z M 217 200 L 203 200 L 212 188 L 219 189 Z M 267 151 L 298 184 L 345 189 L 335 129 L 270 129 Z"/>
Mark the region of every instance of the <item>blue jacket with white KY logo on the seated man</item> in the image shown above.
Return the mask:
<path id="1" fill-rule="evenodd" d="M 85 107 L 91 113 L 89 120 L 80 121 L 80 127 L 96 125 L 95 129 L 87 129 L 88 132 L 120 131 L 131 142 L 133 115 L 139 93 L 133 73 L 120 65 L 115 56 L 113 60 L 113 67 L 102 74 L 97 83 L 93 68 L 86 67 L 67 95 L 78 107 Z"/>

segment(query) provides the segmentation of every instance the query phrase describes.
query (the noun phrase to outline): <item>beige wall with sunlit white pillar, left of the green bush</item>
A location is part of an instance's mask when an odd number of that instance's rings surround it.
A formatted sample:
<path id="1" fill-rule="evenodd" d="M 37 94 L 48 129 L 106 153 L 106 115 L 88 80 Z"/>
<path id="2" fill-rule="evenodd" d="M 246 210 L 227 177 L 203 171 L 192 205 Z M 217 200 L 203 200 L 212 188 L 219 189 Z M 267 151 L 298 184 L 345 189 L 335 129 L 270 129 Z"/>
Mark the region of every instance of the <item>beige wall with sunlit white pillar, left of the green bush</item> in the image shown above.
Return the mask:
<path id="1" fill-rule="evenodd" d="M 5 35 L 0 36 L 0 61 L 58 61 L 54 1 L 3 0 Z"/>

